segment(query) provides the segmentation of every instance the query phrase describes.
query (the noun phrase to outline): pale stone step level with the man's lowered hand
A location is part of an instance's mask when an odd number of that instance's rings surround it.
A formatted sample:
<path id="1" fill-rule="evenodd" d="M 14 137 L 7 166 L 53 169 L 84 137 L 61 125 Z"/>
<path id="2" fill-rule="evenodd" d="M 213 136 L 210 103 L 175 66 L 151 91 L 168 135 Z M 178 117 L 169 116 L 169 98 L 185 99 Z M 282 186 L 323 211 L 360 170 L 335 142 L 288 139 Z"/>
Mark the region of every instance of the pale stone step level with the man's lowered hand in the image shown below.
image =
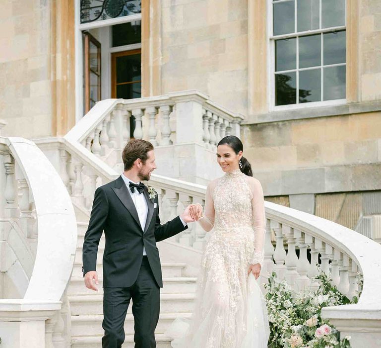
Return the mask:
<path id="1" fill-rule="evenodd" d="M 163 277 L 161 293 L 191 293 L 196 290 L 196 277 Z M 99 279 L 98 290 L 103 293 L 103 280 Z M 68 295 L 92 294 L 93 290 L 87 289 L 83 277 L 72 276 L 69 283 Z"/>

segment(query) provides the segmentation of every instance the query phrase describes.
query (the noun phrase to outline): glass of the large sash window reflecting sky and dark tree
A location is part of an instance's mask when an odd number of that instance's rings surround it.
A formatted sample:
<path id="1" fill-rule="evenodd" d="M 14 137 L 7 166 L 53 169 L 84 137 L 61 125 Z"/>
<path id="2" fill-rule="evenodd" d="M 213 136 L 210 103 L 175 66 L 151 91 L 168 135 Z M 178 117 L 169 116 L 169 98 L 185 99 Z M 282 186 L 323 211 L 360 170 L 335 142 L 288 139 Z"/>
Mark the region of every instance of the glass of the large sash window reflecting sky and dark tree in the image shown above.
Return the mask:
<path id="1" fill-rule="evenodd" d="M 344 99 L 345 0 L 272 2 L 275 105 Z"/>

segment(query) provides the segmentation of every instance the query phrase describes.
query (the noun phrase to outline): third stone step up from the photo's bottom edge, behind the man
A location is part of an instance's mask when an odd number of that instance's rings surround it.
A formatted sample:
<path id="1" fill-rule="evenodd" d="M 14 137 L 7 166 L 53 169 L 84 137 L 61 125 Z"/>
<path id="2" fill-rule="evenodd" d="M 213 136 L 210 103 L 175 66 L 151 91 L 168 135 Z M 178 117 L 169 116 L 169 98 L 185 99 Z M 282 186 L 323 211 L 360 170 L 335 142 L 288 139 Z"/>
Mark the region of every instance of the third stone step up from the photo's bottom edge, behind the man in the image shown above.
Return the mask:
<path id="1" fill-rule="evenodd" d="M 161 294 L 160 313 L 189 313 L 193 311 L 194 293 Z M 103 295 L 94 293 L 90 295 L 68 296 L 71 315 L 99 315 L 103 314 Z M 131 313 L 132 305 L 127 313 Z"/>

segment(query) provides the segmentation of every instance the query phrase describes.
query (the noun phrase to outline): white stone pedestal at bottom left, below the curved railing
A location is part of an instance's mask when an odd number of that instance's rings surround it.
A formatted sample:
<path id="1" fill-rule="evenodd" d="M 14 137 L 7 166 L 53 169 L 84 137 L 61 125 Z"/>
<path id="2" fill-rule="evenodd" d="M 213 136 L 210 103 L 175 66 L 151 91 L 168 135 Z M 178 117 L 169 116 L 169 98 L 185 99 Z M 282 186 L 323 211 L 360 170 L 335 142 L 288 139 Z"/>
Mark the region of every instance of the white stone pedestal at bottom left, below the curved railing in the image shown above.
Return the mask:
<path id="1" fill-rule="evenodd" d="M 0 300 L 1 348 L 48 348 L 45 321 L 61 303 L 41 300 Z"/>

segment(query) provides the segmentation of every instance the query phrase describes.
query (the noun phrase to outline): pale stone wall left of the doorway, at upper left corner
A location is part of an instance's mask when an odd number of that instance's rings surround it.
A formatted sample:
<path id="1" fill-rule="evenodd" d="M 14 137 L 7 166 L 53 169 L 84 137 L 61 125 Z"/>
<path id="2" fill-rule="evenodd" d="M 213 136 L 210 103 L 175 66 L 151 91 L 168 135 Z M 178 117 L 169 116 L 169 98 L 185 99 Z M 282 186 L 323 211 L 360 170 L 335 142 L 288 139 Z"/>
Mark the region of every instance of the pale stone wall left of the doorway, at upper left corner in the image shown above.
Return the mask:
<path id="1" fill-rule="evenodd" d="M 11 0 L 0 6 L 2 134 L 51 134 L 51 1 Z"/>

